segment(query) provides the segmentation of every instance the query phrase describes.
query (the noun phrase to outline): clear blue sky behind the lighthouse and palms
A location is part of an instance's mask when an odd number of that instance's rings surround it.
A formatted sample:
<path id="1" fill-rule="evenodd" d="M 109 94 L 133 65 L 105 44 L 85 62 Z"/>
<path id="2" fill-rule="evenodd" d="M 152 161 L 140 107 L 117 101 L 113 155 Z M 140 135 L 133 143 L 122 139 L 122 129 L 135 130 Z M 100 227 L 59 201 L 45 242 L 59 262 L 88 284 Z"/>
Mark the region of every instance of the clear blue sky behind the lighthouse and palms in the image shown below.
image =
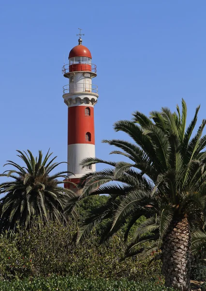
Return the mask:
<path id="1" fill-rule="evenodd" d="M 79 27 L 97 65 L 97 157 L 113 158 L 101 140 L 125 138 L 113 124 L 135 110 L 175 110 L 183 97 L 189 119 L 198 104 L 206 118 L 205 0 L 1 0 L 0 172 L 20 162 L 16 149 L 67 161 L 61 67 Z"/>

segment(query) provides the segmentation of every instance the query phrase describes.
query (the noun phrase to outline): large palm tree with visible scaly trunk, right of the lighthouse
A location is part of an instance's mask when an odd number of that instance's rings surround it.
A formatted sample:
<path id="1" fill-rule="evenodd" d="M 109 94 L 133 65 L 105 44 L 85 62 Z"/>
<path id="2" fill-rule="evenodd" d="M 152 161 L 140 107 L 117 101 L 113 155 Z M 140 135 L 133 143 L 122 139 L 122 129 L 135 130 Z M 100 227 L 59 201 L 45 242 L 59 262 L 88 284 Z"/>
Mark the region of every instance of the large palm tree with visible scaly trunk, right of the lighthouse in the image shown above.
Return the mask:
<path id="1" fill-rule="evenodd" d="M 159 252 L 165 285 L 178 290 L 190 290 L 191 232 L 201 229 L 206 206 L 206 125 L 203 120 L 197 132 L 197 107 L 186 128 L 187 106 L 182 111 L 168 108 L 153 111 L 149 118 L 139 112 L 133 120 L 115 124 L 116 131 L 127 133 L 133 140 L 105 140 L 127 161 L 107 162 L 88 158 L 82 165 L 103 162 L 112 166 L 82 178 L 82 196 L 110 194 L 108 202 L 94 210 L 80 228 L 77 242 L 84 239 L 91 228 L 110 218 L 102 242 L 110 238 L 124 224 L 125 239 L 136 220 L 146 220 L 137 226 L 128 256 L 146 256 Z M 124 159 L 125 160 L 125 159 Z M 147 243 L 146 243 L 147 242 Z"/>

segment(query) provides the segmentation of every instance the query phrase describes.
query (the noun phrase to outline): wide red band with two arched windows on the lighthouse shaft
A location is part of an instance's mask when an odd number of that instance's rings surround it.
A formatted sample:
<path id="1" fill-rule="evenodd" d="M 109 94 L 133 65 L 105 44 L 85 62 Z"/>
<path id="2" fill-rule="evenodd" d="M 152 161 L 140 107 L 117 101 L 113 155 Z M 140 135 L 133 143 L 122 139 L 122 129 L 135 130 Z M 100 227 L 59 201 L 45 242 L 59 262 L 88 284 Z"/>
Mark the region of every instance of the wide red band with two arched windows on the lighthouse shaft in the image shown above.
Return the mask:
<path id="1" fill-rule="evenodd" d="M 90 116 L 85 109 L 90 109 Z M 91 141 L 86 141 L 86 133 L 91 133 Z M 68 108 L 68 145 L 95 144 L 94 141 L 94 108 L 90 106 L 73 106 Z"/>

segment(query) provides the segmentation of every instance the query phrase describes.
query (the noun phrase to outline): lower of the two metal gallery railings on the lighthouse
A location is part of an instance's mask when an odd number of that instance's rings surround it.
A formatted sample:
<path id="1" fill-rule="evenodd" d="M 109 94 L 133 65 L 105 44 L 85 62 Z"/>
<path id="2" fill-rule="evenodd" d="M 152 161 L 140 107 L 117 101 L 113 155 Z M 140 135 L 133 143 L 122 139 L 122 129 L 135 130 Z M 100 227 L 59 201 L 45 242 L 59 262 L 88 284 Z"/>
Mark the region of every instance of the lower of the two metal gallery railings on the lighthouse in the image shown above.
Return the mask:
<path id="1" fill-rule="evenodd" d="M 86 84 L 86 83 L 72 83 L 63 86 L 63 94 L 69 93 L 98 93 L 98 86 L 94 84 Z"/>

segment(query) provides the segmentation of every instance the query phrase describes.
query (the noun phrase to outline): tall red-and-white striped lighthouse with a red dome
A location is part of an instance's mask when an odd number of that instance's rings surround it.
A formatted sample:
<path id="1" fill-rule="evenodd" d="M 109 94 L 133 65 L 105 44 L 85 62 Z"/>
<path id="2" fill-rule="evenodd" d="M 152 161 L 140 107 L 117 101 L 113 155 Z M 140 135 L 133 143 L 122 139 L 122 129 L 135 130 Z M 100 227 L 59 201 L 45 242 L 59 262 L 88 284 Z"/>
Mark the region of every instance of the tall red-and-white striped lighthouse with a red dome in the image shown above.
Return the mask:
<path id="1" fill-rule="evenodd" d="M 91 53 L 82 45 L 80 33 L 78 45 L 69 53 L 69 64 L 64 65 L 62 73 L 69 81 L 63 87 L 63 98 L 68 106 L 68 172 L 72 182 L 96 170 L 95 164 L 82 169 L 80 162 L 88 157 L 95 157 L 94 105 L 97 103 L 98 88 L 92 83 L 97 76 L 97 67 L 93 65 Z M 64 183 L 71 188 L 70 183 Z"/>

